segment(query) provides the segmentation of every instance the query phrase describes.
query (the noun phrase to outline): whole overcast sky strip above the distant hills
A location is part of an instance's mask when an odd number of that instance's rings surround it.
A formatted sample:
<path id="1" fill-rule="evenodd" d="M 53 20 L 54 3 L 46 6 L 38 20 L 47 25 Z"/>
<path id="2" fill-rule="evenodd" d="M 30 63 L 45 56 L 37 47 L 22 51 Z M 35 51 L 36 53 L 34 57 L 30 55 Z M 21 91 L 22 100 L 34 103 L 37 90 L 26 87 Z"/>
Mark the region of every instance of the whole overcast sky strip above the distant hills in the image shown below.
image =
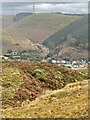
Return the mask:
<path id="1" fill-rule="evenodd" d="M 2 0 L 3 13 L 6 14 L 13 13 L 12 10 L 11 11 L 9 10 L 10 8 L 25 9 L 32 12 L 32 5 L 34 2 L 35 2 L 35 12 L 62 12 L 62 13 L 73 13 L 73 14 L 88 13 L 88 0 L 78 0 L 78 2 L 76 2 L 77 0 L 75 0 L 75 3 L 74 2 L 70 3 L 71 1 L 74 0 L 27 0 L 27 2 L 25 0 L 18 0 L 18 2 L 16 1 L 17 0 Z M 54 3 L 46 3 L 49 1 L 52 1 Z M 68 2 L 66 3 L 65 1 Z"/>

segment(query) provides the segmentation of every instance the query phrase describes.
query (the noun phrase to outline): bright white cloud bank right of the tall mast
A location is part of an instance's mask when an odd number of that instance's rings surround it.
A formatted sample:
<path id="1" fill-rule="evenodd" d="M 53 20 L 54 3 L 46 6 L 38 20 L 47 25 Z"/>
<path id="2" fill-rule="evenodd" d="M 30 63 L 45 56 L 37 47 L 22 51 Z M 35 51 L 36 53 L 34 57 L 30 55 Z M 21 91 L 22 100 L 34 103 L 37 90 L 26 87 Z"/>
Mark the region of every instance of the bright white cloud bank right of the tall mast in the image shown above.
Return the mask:
<path id="1" fill-rule="evenodd" d="M 28 5 L 26 8 L 31 8 L 32 6 Z M 66 13 L 87 13 L 88 4 L 87 3 L 72 3 L 72 4 L 39 4 L 35 5 L 36 12 L 53 12 L 60 11 Z"/>

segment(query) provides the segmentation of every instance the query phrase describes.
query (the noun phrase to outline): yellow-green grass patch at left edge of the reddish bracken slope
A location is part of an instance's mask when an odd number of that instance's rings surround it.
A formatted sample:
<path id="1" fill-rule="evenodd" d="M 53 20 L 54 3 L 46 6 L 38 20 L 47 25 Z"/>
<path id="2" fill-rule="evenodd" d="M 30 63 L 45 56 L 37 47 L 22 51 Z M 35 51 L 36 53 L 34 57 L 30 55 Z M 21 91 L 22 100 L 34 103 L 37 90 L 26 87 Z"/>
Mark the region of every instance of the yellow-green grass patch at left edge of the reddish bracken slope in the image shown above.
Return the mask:
<path id="1" fill-rule="evenodd" d="M 23 77 L 17 68 L 5 67 L 2 76 L 2 99 L 12 98 L 22 83 Z"/>

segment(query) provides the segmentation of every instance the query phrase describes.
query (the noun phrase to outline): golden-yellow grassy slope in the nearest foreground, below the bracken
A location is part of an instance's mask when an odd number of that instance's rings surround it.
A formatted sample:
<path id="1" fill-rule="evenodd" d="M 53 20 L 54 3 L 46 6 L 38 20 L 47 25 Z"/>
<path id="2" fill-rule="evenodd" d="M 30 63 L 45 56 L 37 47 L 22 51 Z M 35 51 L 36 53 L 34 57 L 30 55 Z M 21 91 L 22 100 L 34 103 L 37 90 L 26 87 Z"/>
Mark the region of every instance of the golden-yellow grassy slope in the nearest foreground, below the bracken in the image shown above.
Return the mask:
<path id="1" fill-rule="evenodd" d="M 61 90 L 47 91 L 22 107 L 3 110 L 5 118 L 83 118 L 88 116 L 88 81 L 71 83 Z M 79 119 L 80 120 L 80 119 Z"/>

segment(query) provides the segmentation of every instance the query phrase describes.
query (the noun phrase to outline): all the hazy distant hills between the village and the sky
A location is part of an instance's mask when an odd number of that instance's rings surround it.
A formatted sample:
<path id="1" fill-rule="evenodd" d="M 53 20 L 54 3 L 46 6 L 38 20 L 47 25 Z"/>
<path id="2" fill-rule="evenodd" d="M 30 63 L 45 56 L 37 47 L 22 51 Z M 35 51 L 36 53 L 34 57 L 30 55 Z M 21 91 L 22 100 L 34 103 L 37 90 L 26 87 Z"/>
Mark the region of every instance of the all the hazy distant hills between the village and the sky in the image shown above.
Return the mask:
<path id="1" fill-rule="evenodd" d="M 58 60 L 88 59 L 87 15 L 40 13 L 24 16 L 18 14 L 16 19 L 19 19 L 19 16 L 22 18 L 18 21 L 14 21 L 15 16 L 2 18 L 3 54 L 8 50 L 13 52 L 25 50 L 28 54 L 29 50 L 38 51 L 39 45 L 41 51 L 43 47 L 46 51 L 43 59 L 48 57 Z"/>

